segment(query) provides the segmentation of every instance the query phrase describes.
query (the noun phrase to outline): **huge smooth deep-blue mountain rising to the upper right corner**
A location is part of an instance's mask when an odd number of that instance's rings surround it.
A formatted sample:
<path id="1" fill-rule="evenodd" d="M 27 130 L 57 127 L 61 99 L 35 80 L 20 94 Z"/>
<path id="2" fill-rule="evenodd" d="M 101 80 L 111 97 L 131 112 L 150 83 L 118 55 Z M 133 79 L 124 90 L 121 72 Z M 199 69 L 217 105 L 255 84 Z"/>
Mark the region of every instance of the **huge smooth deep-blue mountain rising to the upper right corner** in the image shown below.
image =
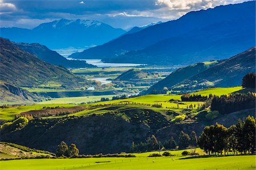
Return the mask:
<path id="1" fill-rule="evenodd" d="M 105 62 L 189 64 L 228 58 L 255 46 L 255 1 L 188 12 L 177 20 L 152 25 L 73 58 Z"/>

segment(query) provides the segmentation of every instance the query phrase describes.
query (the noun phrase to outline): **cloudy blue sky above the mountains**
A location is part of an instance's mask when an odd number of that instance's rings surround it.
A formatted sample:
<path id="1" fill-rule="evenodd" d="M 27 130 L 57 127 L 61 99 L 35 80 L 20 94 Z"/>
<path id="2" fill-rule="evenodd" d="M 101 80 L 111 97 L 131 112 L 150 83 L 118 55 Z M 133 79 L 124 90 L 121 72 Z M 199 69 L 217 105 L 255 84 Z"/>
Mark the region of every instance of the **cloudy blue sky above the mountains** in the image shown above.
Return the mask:
<path id="1" fill-rule="evenodd" d="M 248 0 L 0 0 L 0 27 L 34 28 L 65 19 L 99 20 L 129 29 L 167 22 L 189 11 Z"/>

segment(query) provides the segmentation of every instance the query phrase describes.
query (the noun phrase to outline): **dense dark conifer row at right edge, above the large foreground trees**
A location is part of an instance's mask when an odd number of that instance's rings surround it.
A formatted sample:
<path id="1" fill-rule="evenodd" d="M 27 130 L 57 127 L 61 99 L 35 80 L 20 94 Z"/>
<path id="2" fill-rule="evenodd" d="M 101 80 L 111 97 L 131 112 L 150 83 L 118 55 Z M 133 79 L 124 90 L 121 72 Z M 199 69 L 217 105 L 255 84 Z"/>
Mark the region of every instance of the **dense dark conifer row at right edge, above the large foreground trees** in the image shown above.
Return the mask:
<path id="1" fill-rule="evenodd" d="M 218 111 L 221 114 L 241 111 L 243 109 L 255 108 L 255 94 L 230 94 L 222 96 L 213 96 L 211 102 L 211 111 Z"/>

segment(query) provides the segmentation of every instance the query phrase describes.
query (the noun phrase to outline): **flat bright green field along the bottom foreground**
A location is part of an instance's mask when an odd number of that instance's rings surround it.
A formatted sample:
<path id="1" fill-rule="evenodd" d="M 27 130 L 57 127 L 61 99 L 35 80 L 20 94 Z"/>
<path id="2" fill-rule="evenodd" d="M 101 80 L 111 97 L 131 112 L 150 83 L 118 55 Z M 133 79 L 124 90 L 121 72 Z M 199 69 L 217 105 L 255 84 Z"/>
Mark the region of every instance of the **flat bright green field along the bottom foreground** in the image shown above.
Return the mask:
<path id="1" fill-rule="evenodd" d="M 5 170 L 53 170 L 53 169 L 255 169 L 255 155 L 227 156 L 218 158 L 178 159 L 162 158 L 80 158 L 80 159 L 27 159 L 1 161 Z M 96 162 L 109 163 L 96 163 Z"/>

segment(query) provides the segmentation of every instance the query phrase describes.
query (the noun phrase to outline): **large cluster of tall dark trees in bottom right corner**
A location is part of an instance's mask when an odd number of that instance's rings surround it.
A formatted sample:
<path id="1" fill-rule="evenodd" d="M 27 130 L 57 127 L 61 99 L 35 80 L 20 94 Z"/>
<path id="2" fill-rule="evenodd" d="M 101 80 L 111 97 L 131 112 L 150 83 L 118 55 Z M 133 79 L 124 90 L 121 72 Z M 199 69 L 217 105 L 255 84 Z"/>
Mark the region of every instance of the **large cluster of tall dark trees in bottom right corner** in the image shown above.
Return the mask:
<path id="1" fill-rule="evenodd" d="M 236 125 L 225 128 L 220 124 L 207 126 L 199 137 L 198 144 L 208 154 L 216 154 L 224 151 L 255 152 L 255 119 L 248 116 L 246 120 L 238 120 Z"/>

